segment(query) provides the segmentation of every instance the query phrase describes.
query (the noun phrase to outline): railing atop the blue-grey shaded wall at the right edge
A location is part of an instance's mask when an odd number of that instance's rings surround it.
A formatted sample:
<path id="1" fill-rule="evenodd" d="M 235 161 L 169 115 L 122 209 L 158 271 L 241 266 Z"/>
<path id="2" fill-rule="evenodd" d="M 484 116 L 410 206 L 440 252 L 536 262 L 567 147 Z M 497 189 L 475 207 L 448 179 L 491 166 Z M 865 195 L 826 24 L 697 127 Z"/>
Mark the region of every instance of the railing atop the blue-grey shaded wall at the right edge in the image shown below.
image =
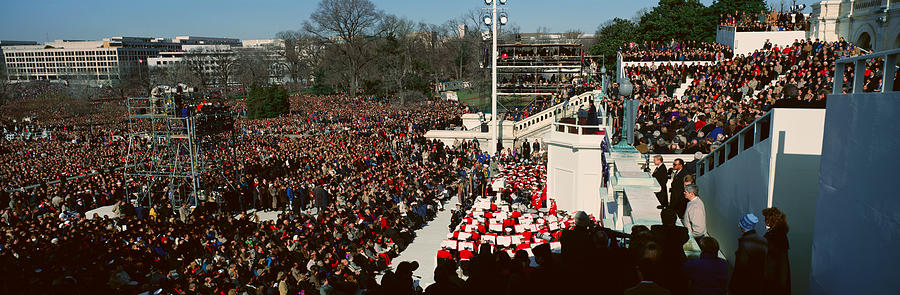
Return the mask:
<path id="1" fill-rule="evenodd" d="M 840 95 L 844 89 L 844 71 L 847 69 L 848 64 L 853 64 L 853 87 L 851 87 L 850 93 L 863 93 L 863 83 L 865 83 L 865 79 L 863 77 L 866 71 L 866 61 L 873 58 L 884 58 L 884 69 L 881 75 L 881 92 L 894 92 L 894 87 L 892 84 L 889 84 L 888 81 L 894 77 L 894 74 L 897 72 L 897 55 L 900 55 L 900 48 L 879 51 L 875 53 L 870 53 L 866 55 L 854 56 L 854 57 L 846 57 L 835 61 L 834 63 L 834 77 L 832 77 L 832 81 L 834 83 L 831 88 L 832 95 Z M 892 80 L 891 80 L 892 81 Z"/>

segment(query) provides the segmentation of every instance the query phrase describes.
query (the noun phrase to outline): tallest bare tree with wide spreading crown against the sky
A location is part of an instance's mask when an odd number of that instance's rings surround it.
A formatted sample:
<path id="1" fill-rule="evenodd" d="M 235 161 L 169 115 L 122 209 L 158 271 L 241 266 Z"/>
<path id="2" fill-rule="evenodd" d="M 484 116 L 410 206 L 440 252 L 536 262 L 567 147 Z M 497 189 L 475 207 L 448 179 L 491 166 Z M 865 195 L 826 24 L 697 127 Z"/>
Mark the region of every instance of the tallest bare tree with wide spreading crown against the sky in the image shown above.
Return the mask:
<path id="1" fill-rule="evenodd" d="M 321 39 L 336 37 L 333 42 L 350 66 L 350 93 L 356 95 L 371 58 L 365 48 L 372 36 L 378 35 L 376 28 L 382 19 L 382 12 L 375 9 L 370 0 L 322 0 L 309 21 L 304 21 L 303 29 Z"/>

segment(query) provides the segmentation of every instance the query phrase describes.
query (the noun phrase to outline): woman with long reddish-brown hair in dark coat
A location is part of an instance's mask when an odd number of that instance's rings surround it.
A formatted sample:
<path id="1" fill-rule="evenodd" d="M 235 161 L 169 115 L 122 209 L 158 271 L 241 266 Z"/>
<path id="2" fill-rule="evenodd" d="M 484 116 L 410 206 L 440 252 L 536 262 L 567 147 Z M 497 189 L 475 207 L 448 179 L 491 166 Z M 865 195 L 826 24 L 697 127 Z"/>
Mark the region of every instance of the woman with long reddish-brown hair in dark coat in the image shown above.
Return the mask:
<path id="1" fill-rule="evenodd" d="M 763 210 L 766 218 L 766 294 L 791 294 L 791 264 L 788 259 L 787 216 L 776 207 Z"/>

